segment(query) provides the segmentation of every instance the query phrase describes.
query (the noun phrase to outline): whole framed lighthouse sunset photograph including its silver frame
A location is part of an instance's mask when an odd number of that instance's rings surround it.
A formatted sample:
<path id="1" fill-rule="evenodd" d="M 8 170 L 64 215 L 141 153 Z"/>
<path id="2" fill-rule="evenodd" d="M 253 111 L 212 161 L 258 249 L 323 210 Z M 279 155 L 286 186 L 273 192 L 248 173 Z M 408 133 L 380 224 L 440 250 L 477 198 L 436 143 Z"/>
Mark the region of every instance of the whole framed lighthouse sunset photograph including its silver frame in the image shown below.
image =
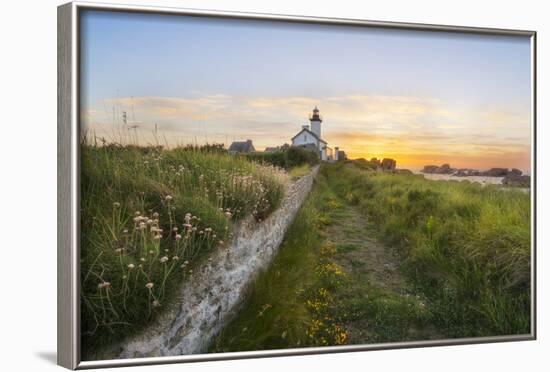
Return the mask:
<path id="1" fill-rule="evenodd" d="M 58 8 L 58 363 L 533 340 L 534 31 Z"/>

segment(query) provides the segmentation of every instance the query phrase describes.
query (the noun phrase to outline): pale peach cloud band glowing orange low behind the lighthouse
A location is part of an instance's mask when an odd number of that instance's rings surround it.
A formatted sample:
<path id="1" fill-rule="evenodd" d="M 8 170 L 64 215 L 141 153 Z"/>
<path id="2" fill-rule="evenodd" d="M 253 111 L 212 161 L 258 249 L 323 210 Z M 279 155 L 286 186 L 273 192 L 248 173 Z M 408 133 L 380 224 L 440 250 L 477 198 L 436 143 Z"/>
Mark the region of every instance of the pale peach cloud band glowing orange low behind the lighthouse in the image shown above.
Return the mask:
<path id="1" fill-rule="evenodd" d="M 85 108 L 81 118 L 85 129 L 110 140 L 128 137 L 122 124 L 126 111 L 141 143 L 154 140 L 156 127 L 168 145 L 252 139 L 263 149 L 290 142 L 316 105 L 324 117 L 323 137 L 355 157 L 392 154 L 426 161 L 428 154 L 434 160 L 486 157 L 494 163 L 499 157 L 529 158 L 528 109 L 464 107 L 425 97 L 121 97 Z"/>

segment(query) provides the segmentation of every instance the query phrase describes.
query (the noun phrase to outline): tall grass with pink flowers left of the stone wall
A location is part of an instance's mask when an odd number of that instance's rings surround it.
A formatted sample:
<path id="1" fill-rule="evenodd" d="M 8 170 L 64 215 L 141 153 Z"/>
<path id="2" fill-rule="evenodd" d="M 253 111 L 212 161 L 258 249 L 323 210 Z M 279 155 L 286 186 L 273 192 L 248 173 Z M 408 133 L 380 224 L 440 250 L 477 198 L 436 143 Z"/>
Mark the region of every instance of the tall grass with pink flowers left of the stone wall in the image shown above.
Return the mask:
<path id="1" fill-rule="evenodd" d="M 84 358 L 151 323 L 232 225 L 275 210 L 288 176 L 217 147 L 81 146 Z"/>

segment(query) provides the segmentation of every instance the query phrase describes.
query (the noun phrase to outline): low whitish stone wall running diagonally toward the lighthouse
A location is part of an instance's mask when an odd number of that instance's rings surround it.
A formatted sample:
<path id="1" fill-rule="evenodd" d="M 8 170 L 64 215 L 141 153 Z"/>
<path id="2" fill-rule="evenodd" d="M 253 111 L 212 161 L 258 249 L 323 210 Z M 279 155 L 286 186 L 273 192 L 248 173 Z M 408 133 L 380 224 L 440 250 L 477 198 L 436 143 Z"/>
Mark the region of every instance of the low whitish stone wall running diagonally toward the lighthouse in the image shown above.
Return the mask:
<path id="1" fill-rule="evenodd" d="M 187 278 L 180 300 L 155 325 L 111 350 L 113 358 L 201 353 L 231 319 L 258 271 L 271 262 L 286 230 L 305 200 L 319 167 L 291 182 L 281 206 L 261 223 L 243 221 L 227 249 Z M 109 356 L 106 356 L 109 357 Z"/>

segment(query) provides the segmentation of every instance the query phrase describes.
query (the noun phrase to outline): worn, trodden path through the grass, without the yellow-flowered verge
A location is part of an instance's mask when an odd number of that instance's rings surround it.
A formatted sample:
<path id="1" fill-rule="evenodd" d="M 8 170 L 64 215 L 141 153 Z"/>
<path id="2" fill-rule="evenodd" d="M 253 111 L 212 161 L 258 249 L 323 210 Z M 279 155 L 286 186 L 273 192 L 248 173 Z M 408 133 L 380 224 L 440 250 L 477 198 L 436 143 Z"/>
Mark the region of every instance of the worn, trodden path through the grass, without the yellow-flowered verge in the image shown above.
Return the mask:
<path id="1" fill-rule="evenodd" d="M 437 339 L 425 300 L 399 270 L 399 261 L 375 238 L 373 226 L 355 206 L 336 199 L 324 239 L 336 248 L 333 261 L 346 282 L 333 295 L 334 314 L 342 321 L 349 342 L 372 343 Z"/>

